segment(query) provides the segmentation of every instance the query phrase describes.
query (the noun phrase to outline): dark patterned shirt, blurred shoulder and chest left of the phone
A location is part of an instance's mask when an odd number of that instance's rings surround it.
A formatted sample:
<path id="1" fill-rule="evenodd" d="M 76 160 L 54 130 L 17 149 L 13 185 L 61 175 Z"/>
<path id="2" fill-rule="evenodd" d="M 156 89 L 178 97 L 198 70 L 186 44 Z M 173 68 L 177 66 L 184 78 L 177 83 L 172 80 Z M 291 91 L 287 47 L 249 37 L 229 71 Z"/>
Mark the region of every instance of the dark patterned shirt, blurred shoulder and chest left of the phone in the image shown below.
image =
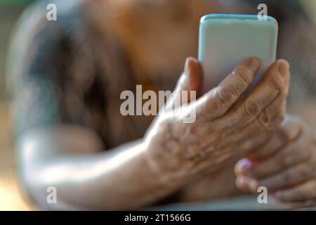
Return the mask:
<path id="1" fill-rule="evenodd" d="M 119 112 L 121 91 L 136 87 L 124 46 L 104 11 L 79 2 L 58 4 L 58 21 L 46 20 L 46 1 L 22 16 L 9 72 L 15 131 L 76 124 L 110 149 L 140 139 L 150 121 Z"/>

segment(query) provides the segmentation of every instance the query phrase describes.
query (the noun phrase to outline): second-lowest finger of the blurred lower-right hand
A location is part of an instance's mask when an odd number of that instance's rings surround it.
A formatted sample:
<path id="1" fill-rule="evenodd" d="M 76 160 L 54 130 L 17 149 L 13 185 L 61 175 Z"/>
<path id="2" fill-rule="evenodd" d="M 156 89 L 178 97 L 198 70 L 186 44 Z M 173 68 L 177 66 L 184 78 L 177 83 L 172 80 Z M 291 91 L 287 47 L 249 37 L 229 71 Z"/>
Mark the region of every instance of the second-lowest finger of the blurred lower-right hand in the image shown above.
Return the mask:
<path id="1" fill-rule="evenodd" d="M 284 188 L 291 188 L 312 178 L 312 171 L 315 169 L 308 162 L 302 162 L 294 167 L 284 170 L 278 174 L 258 181 L 259 186 L 265 186 L 269 191 L 278 191 Z"/>

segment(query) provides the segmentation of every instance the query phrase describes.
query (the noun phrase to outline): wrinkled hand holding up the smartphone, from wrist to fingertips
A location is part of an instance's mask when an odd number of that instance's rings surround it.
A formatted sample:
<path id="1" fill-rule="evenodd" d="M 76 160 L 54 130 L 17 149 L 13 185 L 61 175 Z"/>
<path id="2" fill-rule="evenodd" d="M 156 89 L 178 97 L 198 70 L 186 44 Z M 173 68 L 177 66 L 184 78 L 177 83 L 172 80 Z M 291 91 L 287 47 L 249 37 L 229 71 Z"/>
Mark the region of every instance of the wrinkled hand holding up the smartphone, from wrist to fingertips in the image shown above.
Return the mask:
<path id="1" fill-rule="evenodd" d="M 264 79 L 241 98 L 259 67 L 256 58 L 246 59 L 197 101 L 157 117 L 145 143 L 152 167 L 167 181 L 214 169 L 268 141 L 285 115 L 289 63 L 277 60 Z M 199 93 L 201 80 L 199 63 L 189 58 L 168 107 L 174 105 L 179 91 Z M 192 110 L 196 121 L 184 123 Z"/>

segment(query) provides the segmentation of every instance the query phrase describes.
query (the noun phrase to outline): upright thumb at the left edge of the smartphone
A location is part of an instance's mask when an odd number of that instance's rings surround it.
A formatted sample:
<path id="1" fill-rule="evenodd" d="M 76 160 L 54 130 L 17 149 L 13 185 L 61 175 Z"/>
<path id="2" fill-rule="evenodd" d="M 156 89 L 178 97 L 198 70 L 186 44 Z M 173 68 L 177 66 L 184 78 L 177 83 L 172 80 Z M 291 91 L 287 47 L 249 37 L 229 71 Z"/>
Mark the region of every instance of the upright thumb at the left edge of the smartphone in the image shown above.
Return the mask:
<path id="1" fill-rule="evenodd" d="M 171 109 L 177 103 L 184 105 L 190 103 L 192 91 L 195 91 L 195 98 L 199 97 L 199 92 L 202 87 L 202 69 L 199 61 L 195 58 L 189 57 L 185 60 L 185 68 L 183 74 L 178 79 L 176 89 L 167 104 L 167 108 Z M 179 102 L 180 101 L 180 102 Z"/>

